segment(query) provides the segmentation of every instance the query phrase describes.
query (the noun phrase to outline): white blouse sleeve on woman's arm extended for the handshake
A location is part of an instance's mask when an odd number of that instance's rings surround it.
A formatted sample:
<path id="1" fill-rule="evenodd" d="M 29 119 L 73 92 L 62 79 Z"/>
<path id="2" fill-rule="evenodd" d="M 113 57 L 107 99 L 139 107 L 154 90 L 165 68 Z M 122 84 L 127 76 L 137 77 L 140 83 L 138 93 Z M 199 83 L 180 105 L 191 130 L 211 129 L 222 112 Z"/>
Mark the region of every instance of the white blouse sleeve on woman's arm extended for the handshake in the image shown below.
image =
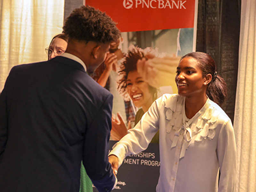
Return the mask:
<path id="1" fill-rule="evenodd" d="M 148 111 L 142 116 L 141 120 L 133 129 L 113 146 L 109 155 L 118 157 L 118 167 L 124 158 L 131 154 L 137 154 L 147 149 L 148 144 L 159 129 L 159 105 L 161 98 L 154 101 Z"/>

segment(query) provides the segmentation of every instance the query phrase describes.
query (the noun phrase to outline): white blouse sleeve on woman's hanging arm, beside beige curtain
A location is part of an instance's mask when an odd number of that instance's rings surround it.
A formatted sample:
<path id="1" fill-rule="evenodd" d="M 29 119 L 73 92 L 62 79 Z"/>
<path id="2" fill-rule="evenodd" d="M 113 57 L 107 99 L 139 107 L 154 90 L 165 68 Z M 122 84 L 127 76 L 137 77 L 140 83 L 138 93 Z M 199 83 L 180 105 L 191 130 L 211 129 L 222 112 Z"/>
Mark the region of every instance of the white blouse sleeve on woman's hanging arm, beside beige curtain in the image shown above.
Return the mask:
<path id="1" fill-rule="evenodd" d="M 220 164 L 219 192 L 234 192 L 236 180 L 236 141 L 230 119 L 223 124 L 219 138 L 217 155 Z"/>

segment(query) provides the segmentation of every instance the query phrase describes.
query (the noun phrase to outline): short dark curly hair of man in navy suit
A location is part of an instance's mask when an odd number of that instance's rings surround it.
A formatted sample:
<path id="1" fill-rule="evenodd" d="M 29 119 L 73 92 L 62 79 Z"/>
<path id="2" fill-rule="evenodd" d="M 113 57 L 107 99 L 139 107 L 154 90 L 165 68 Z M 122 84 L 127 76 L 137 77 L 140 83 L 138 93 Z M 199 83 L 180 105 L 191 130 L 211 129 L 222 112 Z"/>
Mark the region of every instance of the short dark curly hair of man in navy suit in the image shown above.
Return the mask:
<path id="1" fill-rule="evenodd" d="M 120 36 L 116 23 L 106 13 L 88 5 L 75 9 L 68 16 L 63 32 L 70 39 L 86 43 L 108 43 L 116 41 Z"/>

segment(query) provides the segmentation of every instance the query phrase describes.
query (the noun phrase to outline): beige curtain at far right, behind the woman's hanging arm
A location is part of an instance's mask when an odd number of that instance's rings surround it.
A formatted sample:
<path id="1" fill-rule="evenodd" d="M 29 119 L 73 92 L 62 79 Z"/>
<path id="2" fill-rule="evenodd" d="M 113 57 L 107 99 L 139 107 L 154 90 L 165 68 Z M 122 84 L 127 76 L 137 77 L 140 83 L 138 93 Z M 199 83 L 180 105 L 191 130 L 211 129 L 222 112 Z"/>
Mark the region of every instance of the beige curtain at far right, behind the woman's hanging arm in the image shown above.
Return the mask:
<path id="1" fill-rule="evenodd" d="M 256 191 L 256 0 L 241 1 L 239 67 L 234 129 L 236 192 Z"/>

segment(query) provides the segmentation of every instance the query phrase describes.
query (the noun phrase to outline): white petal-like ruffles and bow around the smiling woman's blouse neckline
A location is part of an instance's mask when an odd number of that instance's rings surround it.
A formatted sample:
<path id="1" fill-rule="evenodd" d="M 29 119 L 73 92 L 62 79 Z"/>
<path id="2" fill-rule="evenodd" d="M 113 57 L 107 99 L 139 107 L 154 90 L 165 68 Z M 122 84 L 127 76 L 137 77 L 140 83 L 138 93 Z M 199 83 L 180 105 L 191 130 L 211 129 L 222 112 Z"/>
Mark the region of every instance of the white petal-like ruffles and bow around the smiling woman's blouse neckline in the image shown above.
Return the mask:
<path id="1" fill-rule="evenodd" d="M 185 98 L 174 95 L 172 98 L 164 101 L 165 117 L 169 123 L 166 126 L 166 132 L 170 133 L 172 146 L 176 147 L 180 134 L 184 137 L 181 148 L 180 158 L 184 157 L 186 149 L 193 142 L 200 142 L 203 139 L 212 140 L 215 137 L 215 128 L 220 112 L 207 102 L 204 107 L 193 117 L 192 124 L 183 123 L 183 108 Z M 184 131 L 182 131 L 184 130 Z"/>

